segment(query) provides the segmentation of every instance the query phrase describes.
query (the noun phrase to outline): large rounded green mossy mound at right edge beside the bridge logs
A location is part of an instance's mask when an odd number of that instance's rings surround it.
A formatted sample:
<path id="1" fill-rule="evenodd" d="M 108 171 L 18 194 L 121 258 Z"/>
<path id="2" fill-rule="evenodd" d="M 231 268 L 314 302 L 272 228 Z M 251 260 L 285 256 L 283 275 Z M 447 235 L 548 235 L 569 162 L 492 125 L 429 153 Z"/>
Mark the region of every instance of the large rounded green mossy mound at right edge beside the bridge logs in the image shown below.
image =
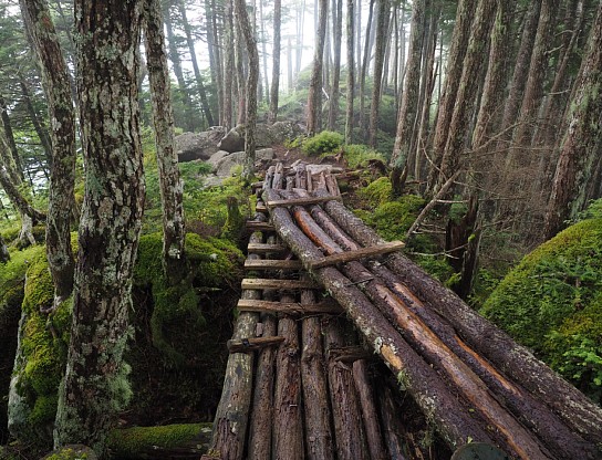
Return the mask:
<path id="1" fill-rule="evenodd" d="M 598 402 L 602 396 L 602 219 L 527 255 L 481 313 Z"/>

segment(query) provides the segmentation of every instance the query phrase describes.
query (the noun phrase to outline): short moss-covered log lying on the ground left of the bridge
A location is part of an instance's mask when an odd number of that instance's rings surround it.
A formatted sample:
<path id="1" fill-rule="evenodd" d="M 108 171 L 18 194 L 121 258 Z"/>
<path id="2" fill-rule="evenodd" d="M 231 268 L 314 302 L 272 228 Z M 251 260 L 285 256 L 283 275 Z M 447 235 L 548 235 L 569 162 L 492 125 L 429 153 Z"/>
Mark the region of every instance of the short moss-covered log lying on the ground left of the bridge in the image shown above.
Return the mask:
<path id="1" fill-rule="evenodd" d="M 211 437 L 211 424 L 181 424 L 162 427 L 134 427 L 113 430 L 108 438 L 113 458 L 135 460 L 147 451 L 159 458 L 162 451 L 168 458 L 170 450 L 186 449 L 190 453 L 207 450 Z"/>

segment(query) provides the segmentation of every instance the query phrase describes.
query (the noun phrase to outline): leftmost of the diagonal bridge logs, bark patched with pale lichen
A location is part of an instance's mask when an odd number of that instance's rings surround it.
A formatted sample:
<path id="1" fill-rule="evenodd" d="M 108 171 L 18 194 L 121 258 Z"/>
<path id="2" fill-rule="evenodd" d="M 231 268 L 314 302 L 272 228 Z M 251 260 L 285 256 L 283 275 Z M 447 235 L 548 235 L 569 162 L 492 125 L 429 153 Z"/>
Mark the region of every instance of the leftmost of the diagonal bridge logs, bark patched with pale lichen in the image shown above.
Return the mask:
<path id="1" fill-rule="evenodd" d="M 266 190 L 264 195 L 274 199 L 279 197 L 274 190 Z M 302 261 L 310 262 L 321 257 L 287 210 L 274 209 L 271 217 L 278 233 Z M 349 286 L 349 279 L 331 266 L 319 269 L 314 275 L 347 311 L 375 353 L 408 388 L 421 409 L 432 417 L 452 448 L 468 441 L 465 432 L 470 432 L 475 441 L 494 442 L 482 428 L 485 422 L 458 401 L 457 395 L 445 387 L 437 373 L 403 341 L 364 294 L 356 286 Z"/>

